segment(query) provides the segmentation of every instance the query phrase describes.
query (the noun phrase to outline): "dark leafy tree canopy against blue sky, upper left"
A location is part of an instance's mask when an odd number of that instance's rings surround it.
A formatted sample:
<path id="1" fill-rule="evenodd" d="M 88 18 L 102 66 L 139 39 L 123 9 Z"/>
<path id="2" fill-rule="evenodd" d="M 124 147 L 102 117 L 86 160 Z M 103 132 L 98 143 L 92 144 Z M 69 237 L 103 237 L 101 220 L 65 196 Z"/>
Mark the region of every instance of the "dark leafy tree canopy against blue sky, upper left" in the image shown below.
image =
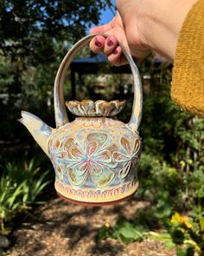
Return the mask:
<path id="1" fill-rule="evenodd" d="M 12 61 L 53 62 L 56 43 L 76 41 L 99 23 L 105 2 L 86 0 L 2 0 L 0 49 Z M 59 45 L 58 45 L 59 46 Z"/>

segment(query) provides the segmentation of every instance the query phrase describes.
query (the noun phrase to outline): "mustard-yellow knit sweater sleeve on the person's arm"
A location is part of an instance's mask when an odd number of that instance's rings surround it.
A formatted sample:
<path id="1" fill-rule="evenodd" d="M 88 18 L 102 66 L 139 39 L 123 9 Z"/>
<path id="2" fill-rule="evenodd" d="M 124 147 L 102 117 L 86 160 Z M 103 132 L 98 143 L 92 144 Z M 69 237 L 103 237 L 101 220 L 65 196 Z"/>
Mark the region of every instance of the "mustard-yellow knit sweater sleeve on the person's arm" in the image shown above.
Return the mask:
<path id="1" fill-rule="evenodd" d="M 204 0 L 194 4 L 179 36 L 171 97 L 183 110 L 204 117 Z"/>

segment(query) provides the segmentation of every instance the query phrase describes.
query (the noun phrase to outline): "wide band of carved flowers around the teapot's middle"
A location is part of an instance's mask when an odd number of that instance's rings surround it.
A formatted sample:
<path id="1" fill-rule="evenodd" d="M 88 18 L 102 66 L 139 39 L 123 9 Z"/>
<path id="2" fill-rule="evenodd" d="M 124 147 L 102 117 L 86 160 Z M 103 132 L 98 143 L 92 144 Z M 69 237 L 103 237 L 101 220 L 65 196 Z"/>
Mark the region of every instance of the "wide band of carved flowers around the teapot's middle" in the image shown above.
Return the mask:
<path id="1" fill-rule="evenodd" d="M 82 140 L 69 136 L 49 141 L 50 158 L 59 180 L 66 175 L 70 184 L 79 187 L 92 183 L 107 187 L 116 175 L 125 179 L 131 167 L 137 165 L 139 150 L 139 139 L 132 143 L 122 137 L 114 144 L 111 136 L 102 132 L 89 133 Z"/>

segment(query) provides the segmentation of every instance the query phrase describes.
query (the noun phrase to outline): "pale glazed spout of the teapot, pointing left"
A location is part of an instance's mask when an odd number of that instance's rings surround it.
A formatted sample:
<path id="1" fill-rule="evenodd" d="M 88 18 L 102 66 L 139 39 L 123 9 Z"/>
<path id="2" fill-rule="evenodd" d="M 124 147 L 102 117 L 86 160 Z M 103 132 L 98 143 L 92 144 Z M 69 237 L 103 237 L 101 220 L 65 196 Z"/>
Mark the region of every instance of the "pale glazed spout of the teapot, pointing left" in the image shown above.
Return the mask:
<path id="1" fill-rule="evenodd" d="M 28 128 L 35 141 L 41 146 L 42 150 L 48 155 L 48 138 L 54 128 L 49 127 L 44 121 L 41 121 L 36 115 L 22 111 L 22 118 L 19 119 L 26 128 Z"/>

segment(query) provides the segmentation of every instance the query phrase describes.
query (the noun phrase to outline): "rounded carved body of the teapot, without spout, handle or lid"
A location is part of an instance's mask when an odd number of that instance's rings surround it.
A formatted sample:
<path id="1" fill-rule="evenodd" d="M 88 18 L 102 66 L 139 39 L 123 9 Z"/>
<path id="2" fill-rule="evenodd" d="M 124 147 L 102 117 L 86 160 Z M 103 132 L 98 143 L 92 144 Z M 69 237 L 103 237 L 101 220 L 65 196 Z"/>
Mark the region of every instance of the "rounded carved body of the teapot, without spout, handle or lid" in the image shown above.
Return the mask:
<path id="1" fill-rule="evenodd" d="M 77 117 L 55 129 L 48 154 L 55 189 L 65 200 L 105 205 L 135 194 L 141 140 L 128 124 L 107 117 Z"/>

